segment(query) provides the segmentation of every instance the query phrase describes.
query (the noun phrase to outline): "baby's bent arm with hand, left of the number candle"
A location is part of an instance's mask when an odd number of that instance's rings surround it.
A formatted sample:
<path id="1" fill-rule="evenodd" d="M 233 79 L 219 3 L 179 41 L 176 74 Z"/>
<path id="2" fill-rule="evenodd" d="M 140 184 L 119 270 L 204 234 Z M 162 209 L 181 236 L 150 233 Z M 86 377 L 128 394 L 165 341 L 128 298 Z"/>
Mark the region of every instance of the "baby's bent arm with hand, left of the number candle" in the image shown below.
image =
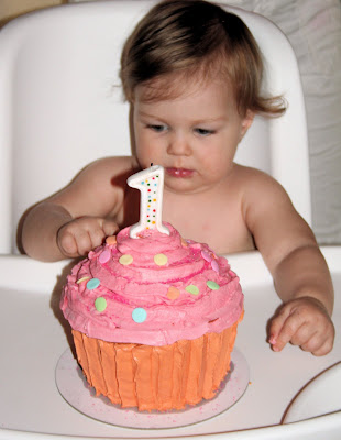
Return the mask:
<path id="1" fill-rule="evenodd" d="M 33 207 L 23 221 L 22 246 L 28 255 L 57 261 L 86 254 L 118 230 L 124 189 L 116 175 L 131 168 L 131 158 L 97 161 L 66 188 Z"/>

